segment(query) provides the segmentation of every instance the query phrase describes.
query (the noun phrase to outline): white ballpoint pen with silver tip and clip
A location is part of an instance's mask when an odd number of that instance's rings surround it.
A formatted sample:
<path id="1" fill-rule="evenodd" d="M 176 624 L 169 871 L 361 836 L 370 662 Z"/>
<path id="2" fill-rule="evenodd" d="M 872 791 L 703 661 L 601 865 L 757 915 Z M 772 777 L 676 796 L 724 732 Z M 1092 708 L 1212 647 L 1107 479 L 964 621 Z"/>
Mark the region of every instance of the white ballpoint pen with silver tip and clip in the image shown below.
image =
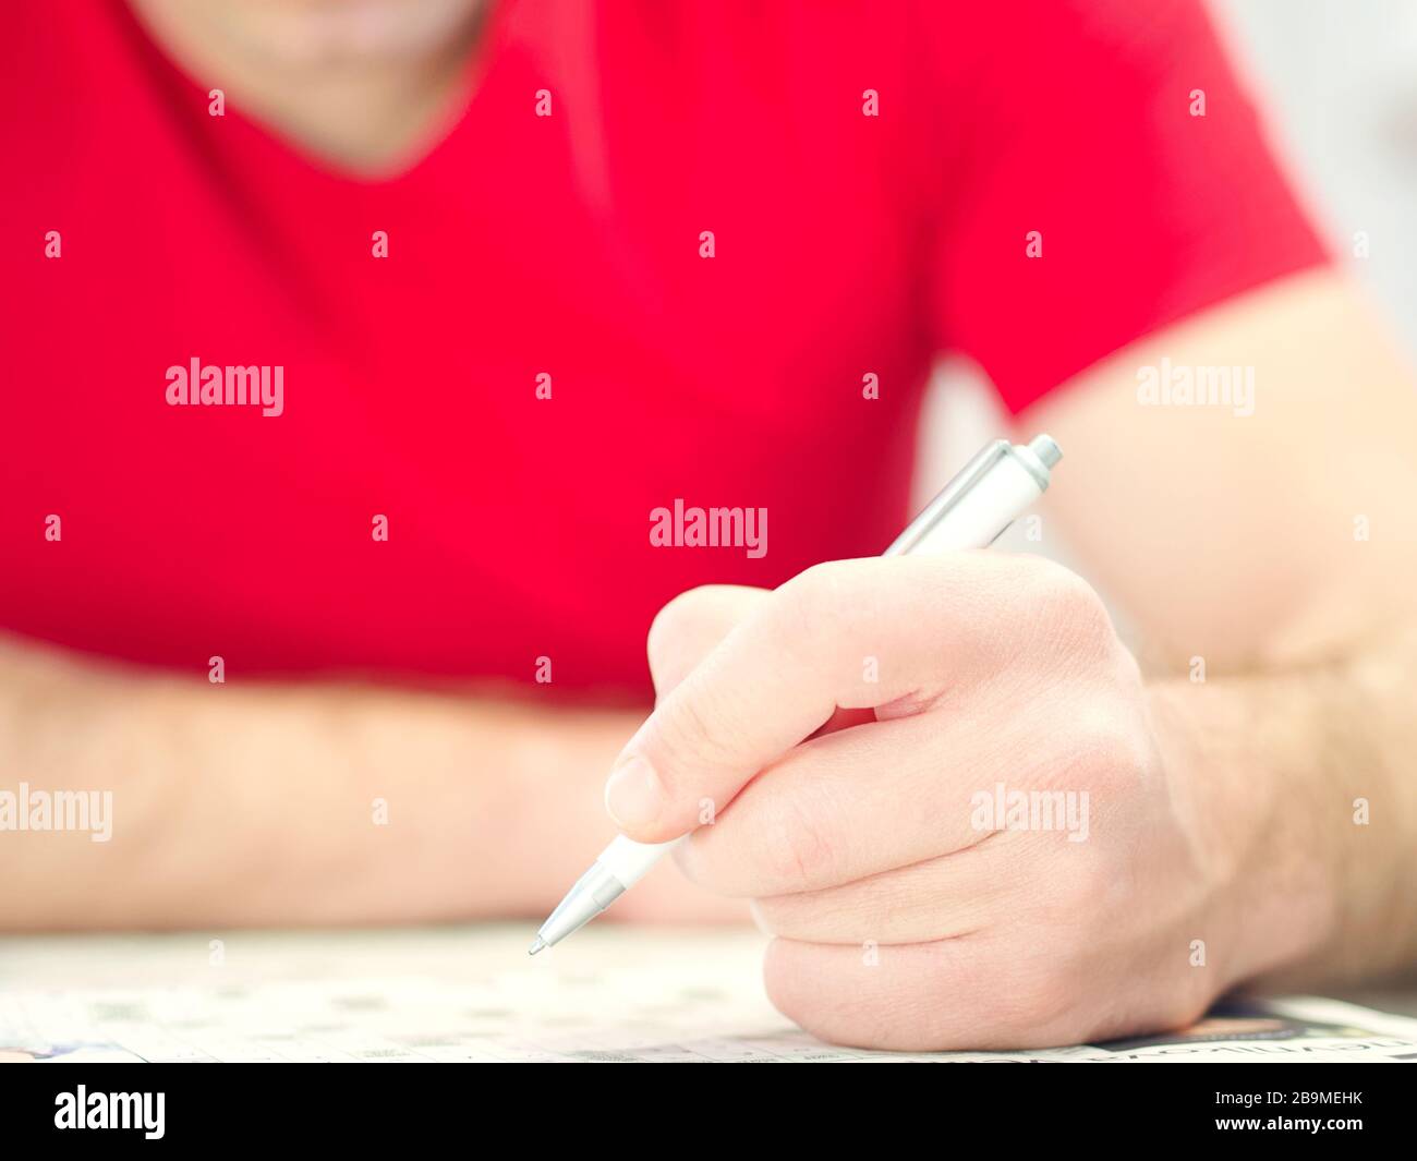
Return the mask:
<path id="1" fill-rule="evenodd" d="M 986 549 L 1049 486 L 1063 451 L 1047 435 L 1027 444 L 988 444 L 896 537 L 883 556 L 921 556 Z M 551 912 L 529 948 L 536 955 L 589 923 L 689 835 L 669 842 L 635 842 L 619 835 Z"/>

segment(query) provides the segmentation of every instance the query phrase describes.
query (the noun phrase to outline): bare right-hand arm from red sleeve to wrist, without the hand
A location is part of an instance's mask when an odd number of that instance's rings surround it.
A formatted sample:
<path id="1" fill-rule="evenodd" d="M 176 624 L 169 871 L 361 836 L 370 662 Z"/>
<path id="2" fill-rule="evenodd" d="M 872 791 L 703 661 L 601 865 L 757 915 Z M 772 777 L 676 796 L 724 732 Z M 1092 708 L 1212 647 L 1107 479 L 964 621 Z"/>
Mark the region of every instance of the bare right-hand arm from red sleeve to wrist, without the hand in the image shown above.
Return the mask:
<path id="1" fill-rule="evenodd" d="M 1253 414 L 1139 403 L 1162 360 L 1173 384 L 1253 373 Z M 1221 797 L 1213 849 L 1272 885 L 1257 927 L 1333 885 L 1287 982 L 1417 967 L 1417 390 L 1372 308 L 1291 278 L 1026 418 L 1067 451 L 1044 519 L 1138 622 L 1168 764 Z"/>

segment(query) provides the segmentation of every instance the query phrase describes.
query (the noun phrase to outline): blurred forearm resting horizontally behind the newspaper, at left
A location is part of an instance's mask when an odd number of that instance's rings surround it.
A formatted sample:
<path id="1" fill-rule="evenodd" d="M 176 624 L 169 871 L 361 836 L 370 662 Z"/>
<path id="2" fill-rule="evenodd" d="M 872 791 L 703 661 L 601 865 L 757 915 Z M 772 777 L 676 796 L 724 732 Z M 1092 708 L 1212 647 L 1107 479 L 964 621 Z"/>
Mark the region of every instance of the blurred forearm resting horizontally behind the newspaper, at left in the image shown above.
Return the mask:
<path id="1" fill-rule="evenodd" d="M 0 642 L 0 790 L 109 791 L 111 836 L 0 832 L 0 927 L 544 912 L 612 829 L 633 710 L 210 685 Z"/>

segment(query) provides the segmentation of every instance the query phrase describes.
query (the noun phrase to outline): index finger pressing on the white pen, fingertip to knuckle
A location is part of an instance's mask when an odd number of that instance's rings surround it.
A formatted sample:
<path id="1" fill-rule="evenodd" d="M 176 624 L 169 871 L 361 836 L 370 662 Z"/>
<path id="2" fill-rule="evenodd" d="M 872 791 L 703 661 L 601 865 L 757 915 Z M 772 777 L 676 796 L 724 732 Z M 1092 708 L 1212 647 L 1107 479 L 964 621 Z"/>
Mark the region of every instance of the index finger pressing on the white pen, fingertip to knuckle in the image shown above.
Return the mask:
<path id="1" fill-rule="evenodd" d="M 1024 557 L 845 560 L 794 577 L 665 697 L 605 787 L 616 825 L 665 842 L 717 814 L 837 707 L 925 705 L 992 668 Z M 1054 567 L 1054 566 L 1047 566 Z M 1060 570 L 1061 571 L 1061 570 Z"/>

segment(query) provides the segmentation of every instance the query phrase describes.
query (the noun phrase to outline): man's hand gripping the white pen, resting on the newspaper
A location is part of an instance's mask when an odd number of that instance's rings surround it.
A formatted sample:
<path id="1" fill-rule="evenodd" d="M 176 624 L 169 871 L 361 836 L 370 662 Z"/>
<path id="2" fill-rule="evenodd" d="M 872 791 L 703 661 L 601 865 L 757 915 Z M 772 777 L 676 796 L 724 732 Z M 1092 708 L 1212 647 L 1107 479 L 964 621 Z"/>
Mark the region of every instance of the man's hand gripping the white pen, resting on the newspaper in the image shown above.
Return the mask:
<path id="1" fill-rule="evenodd" d="M 660 700 L 611 814 L 646 842 L 697 828 L 683 868 L 754 900 L 769 995 L 826 1039 L 1185 1025 L 1326 933 L 1312 845 L 1275 907 L 1275 797 L 1169 761 L 1189 746 L 1153 717 L 1176 714 L 1058 566 L 956 553 L 694 590 L 656 619 L 650 665 Z"/>

